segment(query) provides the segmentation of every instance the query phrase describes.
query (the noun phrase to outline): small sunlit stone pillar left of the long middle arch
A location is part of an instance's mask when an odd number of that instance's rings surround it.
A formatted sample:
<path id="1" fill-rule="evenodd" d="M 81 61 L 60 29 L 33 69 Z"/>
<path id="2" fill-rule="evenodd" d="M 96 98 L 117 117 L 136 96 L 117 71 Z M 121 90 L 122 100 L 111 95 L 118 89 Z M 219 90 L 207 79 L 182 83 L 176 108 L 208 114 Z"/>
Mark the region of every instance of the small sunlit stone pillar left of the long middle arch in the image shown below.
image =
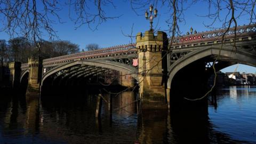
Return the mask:
<path id="1" fill-rule="evenodd" d="M 31 57 L 28 58 L 28 89 L 27 93 L 38 93 L 39 92 L 39 81 L 38 81 L 38 60 Z"/>

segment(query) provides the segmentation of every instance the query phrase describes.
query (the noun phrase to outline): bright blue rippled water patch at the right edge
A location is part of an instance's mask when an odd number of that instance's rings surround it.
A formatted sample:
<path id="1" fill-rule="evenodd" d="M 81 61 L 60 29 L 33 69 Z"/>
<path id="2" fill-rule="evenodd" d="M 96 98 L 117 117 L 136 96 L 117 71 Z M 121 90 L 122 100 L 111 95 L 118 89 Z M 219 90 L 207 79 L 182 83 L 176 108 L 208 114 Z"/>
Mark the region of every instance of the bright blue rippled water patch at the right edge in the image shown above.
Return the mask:
<path id="1" fill-rule="evenodd" d="M 214 130 L 231 139 L 256 142 L 256 86 L 230 86 L 218 91 L 218 109 L 209 107 Z"/>

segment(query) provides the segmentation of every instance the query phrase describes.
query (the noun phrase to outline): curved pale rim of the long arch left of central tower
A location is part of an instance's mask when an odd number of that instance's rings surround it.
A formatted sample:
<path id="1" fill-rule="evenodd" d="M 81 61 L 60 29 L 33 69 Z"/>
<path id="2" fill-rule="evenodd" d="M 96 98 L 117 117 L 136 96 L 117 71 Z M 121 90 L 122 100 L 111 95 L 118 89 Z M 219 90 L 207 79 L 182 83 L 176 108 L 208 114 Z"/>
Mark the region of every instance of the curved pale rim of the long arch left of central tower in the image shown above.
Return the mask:
<path id="1" fill-rule="evenodd" d="M 108 60 L 79 60 L 74 62 L 69 62 L 65 65 L 57 66 L 50 71 L 47 71 L 46 74 L 42 77 L 42 85 L 44 85 L 44 81 L 47 77 L 51 76 L 52 74 L 58 73 L 58 71 L 73 67 L 76 65 L 87 65 L 87 66 L 94 66 L 94 67 L 100 67 L 103 69 L 114 69 L 116 71 L 121 71 L 124 74 L 130 74 L 134 79 L 138 81 L 137 76 L 137 69 L 127 66 L 122 63 L 112 62 Z"/>

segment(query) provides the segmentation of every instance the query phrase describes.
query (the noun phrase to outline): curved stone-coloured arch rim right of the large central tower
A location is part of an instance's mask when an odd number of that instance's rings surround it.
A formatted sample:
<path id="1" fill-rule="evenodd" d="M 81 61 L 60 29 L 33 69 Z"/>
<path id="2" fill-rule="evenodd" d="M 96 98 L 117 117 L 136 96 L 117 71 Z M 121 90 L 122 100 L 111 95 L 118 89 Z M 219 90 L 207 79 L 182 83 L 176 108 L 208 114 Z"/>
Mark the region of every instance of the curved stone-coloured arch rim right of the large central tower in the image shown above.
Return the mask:
<path id="1" fill-rule="evenodd" d="M 197 60 L 203 59 L 208 56 L 212 55 L 219 55 L 220 57 L 230 58 L 245 65 L 254 66 L 256 67 L 256 53 L 249 52 L 246 50 L 236 49 L 233 45 L 223 45 L 221 52 L 220 47 L 218 46 L 209 46 L 209 47 L 202 47 L 202 49 L 195 50 L 193 52 L 188 53 L 183 58 L 174 62 L 171 67 L 169 68 L 168 73 L 168 80 L 167 80 L 167 88 L 171 89 L 172 79 L 175 74 L 178 73 L 179 70 L 188 66 L 190 63 L 195 62 Z M 235 64 L 235 63 L 233 63 Z"/>

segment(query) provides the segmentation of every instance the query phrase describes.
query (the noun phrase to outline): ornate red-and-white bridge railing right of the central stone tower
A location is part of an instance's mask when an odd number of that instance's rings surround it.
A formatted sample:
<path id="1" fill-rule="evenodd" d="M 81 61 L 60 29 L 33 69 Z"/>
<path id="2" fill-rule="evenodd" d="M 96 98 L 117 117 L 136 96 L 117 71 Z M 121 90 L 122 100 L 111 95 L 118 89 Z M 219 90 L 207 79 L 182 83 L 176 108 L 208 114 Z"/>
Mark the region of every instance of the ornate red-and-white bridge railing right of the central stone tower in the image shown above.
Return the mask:
<path id="1" fill-rule="evenodd" d="M 205 42 L 214 42 L 214 41 L 221 41 L 222 35 L 225 33 L 226 29 L 219 29 L 219 30 L 212 30 L 206 31 L 203 33 L 185 35 L 175 37 L 173 39 L 171 49 L 173 48 L 181 48 L 187 47 L 189 44 L 193 43 L 205 43 Z M 243 38 L 243 37 L 252 37 L 256 34 L 256 24 L 254 25 L 247 25 L 247 26 L 238 26 L 236 28 L 236 38 Z M 235 28 L 230 28 L 226 35 L 225 40 L 235 38 Z M 169 39 L 169 45 L 171 39 Z M 193 45 L 192 45 L 193 46 Z"/>

